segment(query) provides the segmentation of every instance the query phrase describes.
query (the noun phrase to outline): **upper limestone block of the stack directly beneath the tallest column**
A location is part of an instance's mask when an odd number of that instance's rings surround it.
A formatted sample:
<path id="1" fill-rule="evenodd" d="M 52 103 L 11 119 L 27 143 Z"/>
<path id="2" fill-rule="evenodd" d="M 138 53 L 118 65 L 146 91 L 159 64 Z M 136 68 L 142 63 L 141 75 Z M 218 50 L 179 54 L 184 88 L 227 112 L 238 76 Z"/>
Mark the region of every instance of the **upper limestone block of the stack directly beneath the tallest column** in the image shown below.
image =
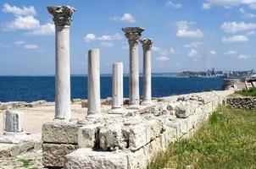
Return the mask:
<path id="1" fill-rule="evenodd" d="M 42 125 L 42 141 L 45 143 L 77 144 L 77 123 L 50 122 Z"/>

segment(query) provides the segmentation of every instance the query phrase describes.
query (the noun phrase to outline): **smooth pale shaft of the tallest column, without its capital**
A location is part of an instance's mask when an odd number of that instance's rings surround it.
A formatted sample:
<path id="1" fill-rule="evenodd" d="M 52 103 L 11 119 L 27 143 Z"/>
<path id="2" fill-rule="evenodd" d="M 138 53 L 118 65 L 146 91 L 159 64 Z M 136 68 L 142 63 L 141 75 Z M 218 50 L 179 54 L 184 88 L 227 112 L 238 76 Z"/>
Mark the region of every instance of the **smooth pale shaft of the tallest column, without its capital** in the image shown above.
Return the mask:
<path id="1" fill-rule="evenodd" d="M 56 26 L 55 35 L 55 119 L 70 119 L 70 26 Z"/>

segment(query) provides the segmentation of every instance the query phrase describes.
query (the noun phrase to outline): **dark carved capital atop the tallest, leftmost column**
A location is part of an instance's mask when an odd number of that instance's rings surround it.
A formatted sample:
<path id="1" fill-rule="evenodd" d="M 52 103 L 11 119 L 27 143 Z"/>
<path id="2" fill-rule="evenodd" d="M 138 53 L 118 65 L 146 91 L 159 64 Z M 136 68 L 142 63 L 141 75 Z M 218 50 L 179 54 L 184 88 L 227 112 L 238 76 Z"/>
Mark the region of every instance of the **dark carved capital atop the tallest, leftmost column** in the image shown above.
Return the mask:
<path id="1" fill-rule="evenodd" d="M 75 8 L 70 6 L 50 6 L 47 7 L 47 10 L 53 15 L 55 26 L 70 25 L 71 16 L 75 12 Z"/>

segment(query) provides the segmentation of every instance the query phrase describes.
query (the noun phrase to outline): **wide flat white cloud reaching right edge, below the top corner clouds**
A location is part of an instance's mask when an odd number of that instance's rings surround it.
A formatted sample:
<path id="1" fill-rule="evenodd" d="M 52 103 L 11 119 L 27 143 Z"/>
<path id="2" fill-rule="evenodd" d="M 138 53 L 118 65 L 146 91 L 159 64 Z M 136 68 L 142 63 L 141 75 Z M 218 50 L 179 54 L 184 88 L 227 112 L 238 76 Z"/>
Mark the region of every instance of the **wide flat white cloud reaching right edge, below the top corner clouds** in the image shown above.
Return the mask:
<path id="1" fill-rule="evenodd" d="M 228 33 L 236 33 L 244 30 L 253 30 L 256 28 L 256 24 L 244 23 L 244 22 L 225 22 L 221 26 L 221 29 Z"/>

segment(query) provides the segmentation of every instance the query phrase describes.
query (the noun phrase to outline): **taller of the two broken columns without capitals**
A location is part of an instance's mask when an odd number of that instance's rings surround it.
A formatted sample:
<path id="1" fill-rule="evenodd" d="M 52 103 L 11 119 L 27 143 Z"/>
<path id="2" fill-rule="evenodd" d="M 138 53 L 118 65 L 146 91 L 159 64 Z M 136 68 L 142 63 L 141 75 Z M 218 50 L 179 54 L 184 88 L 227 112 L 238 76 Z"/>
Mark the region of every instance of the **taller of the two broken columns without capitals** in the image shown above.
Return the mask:
<path id="1" fill-rule="evenodd" d="M 100 115 L 100 66 L 99 49 L 88 52 L 88 112 L 87 115 Z"/>

